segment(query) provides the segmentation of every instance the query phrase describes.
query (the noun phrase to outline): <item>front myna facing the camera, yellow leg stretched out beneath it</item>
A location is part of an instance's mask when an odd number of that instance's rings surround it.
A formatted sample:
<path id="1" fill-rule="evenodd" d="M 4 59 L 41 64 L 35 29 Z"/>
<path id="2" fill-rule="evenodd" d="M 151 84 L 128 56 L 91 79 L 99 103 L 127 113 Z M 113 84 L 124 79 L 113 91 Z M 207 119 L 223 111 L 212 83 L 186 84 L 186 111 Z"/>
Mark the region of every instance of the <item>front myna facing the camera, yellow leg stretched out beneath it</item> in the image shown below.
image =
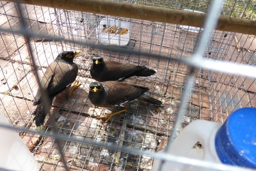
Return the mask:
<path id="1" fill-rule="evenodd" d="M 163 105 L 161 101 L 144 94 L 149 88 L 134 85 L 132 83 L 119 81 L 105 81 L 103 83 L 92 82 L 90 83 L 89 89 L 89 99 L 92 104 L 97 107 L 115 108 L 121 106 L 129 109 L 129 103 L 132 101 L 149 102 L 158 106 Z M 109 120 L 115 114 L 125 112 L 126 109 L 98 118 L 109 117 Z"/>

